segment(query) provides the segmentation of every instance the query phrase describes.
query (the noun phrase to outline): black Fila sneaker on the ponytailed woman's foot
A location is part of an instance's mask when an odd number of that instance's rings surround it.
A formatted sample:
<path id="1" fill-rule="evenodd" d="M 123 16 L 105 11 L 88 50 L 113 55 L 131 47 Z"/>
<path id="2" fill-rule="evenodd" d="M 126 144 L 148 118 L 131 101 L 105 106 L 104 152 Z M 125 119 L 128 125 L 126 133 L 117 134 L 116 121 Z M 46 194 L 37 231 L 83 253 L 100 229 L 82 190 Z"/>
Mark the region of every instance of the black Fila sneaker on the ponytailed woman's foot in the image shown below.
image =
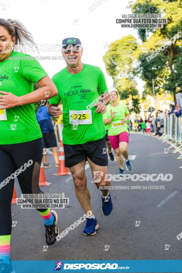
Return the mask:
<path id="1" fill-rule="evenodd" d="M 52 245 L 56 242 L 56 237 L 59 235 L 59 229 L 57 226 L 58 216 L 54 210 L 51 210 L 52 215 L 54 216 L 53 225 L 45 226 L 46 228 L 46 243 L 47 245 Z"/>

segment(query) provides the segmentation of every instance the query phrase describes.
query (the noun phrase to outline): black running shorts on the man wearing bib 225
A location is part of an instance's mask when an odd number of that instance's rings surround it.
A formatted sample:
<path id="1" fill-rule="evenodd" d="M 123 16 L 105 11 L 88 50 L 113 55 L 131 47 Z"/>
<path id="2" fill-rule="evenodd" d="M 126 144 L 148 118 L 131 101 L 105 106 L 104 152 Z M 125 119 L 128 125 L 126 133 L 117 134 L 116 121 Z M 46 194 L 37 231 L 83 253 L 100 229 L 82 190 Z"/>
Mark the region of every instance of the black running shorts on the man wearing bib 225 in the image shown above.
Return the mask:
<path id="1" fill-rule="evenodd" d="M 64 166 L 73 167 L 87 157 L 98 166 L 108 165 L 106 138 L 83 144 L 64 145 Z"/>

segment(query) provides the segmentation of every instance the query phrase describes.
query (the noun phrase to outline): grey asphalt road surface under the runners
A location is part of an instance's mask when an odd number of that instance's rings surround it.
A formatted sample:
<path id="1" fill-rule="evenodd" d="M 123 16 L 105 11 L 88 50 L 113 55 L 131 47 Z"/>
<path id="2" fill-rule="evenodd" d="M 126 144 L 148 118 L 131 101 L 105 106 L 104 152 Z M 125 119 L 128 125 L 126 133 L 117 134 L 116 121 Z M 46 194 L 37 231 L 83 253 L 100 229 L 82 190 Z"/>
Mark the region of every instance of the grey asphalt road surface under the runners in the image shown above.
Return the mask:
<path id="1" fill-rule="evenodd" d="M 91 170 L 86 170 L 88 189 L 91 194 L 91 206 L 99 229 L 94 236 L 83 235 L 85 222 L 77 226 L 59 242 L 42 251 L 45 243 L 45 228 L 40 215 L 35 209 L 21 209 L 20 205 L 12 205 L 12 221 L 17 221 L 12 227 L 11 234 L 11 260 L 155 260 L 155 259 L 181 259 L 182 239 L 176 236 L 182 232 L 181 215 L 181 186 L 182 165 L 176 160 L 179 153 L 164 154 L 168 148 L 157 138 L 143 134 L 130 134 L 129 153 L 136 155 L 133 170 L 125 173 L 131 174 L 159 174 L 170 173 L 171 181 L 113 181 L 113 186 L 147 186 L 140 190 L 111 190 L 113 211 L 109 216 L 101 213 L 100 191 L 91 183 Z M 48 155 L 48 162 L 53 164 L 52 155 Z M 45 169 L 47 181 L 51 186 L 41 187 L 45 193 L 65 193 L 69 197 L 69 205 L 64 209 L 56 209 L 58 213 L 59 232 L 61 233 L 84 212 L 76 199 L 73 180 L 65 183 L 69 176 L 52 176 L 57 168 Z M 109 160 L 108 173 L 116 174 L 118 165 L 116 161 Z M 20 187 L 16 181 L 16 191 L 20 197 Z M 148 186 L 165 186 L 164 189 L 148 189 Z M 174 191 L 177 193 L 167 197 Z M 166 203 L 157 205 L 162 200 Z M 136 221 L 140 221 L 139 226 Z M 139 222 L 138 222 L 139 224 Z M 170 245 L 165 250 L 165 245 Z M 108 250 L 105 245 L 109 245 Z"/>

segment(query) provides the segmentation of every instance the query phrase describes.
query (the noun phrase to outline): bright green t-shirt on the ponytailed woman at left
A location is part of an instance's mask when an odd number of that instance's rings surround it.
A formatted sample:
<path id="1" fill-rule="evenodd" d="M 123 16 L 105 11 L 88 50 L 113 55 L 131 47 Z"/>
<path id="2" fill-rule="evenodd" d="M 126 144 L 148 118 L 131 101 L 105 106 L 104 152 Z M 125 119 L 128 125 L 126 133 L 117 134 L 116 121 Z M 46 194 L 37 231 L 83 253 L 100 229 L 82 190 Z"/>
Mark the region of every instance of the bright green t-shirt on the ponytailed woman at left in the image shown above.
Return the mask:
<path id="1" fill-rule="evenodd" d="M 47 73 L 38 61 L 24 53 L 12 51 L 7 60 L 0 62 L 0 90 L 16 96 L 32 92 L 33 83 L 45 76 Z M 6 114 L 7 120 L 0 120 L 0 145 L 22 143 L 42 137 L 34 104 L 6 109 Z"/>

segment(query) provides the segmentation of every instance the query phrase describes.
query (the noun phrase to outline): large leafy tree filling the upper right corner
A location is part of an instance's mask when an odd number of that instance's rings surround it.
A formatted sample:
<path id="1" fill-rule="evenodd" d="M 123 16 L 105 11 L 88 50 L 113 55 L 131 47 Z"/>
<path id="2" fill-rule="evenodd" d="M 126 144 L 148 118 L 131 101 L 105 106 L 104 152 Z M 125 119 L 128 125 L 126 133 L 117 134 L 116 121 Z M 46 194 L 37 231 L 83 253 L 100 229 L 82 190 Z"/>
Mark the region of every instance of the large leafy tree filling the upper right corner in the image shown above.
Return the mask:
<path id="1" fill-rule="evenodd" d="M 181 74 L 181 37 L 171 43 L 165 50 L 149 62 L 146 57 L 153 51 L 169 41 L 182 30 L 182 5 L 181 0 L 136 0 L 130 4 L 133 13 L 160 13 L 168 18 L 168 24 L 162 29 L 139 29 L 138 35 L 146 52 L 138 53 L 140 69 L 138 74 L 145 81 L 144 94 L 152 93 L 152 78 L 154 79 L 155 92 L 170 91 L 175 100 L 175 94 L 182 91 Z M 141 46 L 140 46 L 141 47 Z M 140 50 L 138 47 L 138 50 Z"/>

